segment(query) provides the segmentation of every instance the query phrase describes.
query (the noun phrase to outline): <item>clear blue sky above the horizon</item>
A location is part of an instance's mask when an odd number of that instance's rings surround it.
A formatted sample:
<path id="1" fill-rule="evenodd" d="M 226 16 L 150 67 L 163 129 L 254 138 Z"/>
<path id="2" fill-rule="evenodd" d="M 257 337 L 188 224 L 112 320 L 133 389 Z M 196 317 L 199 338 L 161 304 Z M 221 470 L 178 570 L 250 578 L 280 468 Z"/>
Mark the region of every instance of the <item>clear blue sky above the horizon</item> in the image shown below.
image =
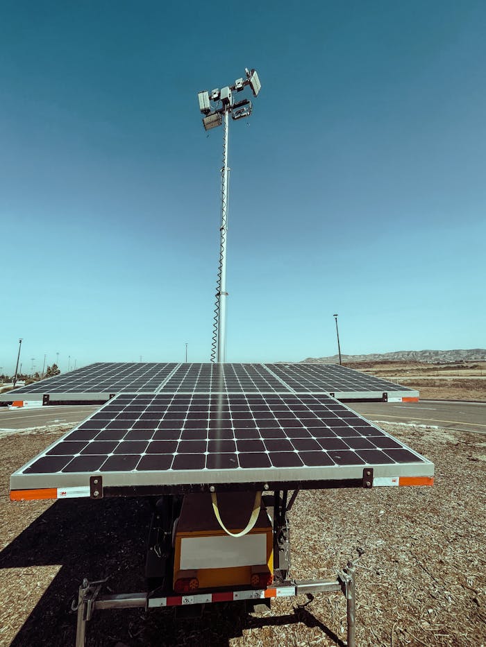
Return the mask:
<path id="1" fill-rule="evenodd" d="M 484 1 L 3 2 L 0 365 L 485 346 Z"/>

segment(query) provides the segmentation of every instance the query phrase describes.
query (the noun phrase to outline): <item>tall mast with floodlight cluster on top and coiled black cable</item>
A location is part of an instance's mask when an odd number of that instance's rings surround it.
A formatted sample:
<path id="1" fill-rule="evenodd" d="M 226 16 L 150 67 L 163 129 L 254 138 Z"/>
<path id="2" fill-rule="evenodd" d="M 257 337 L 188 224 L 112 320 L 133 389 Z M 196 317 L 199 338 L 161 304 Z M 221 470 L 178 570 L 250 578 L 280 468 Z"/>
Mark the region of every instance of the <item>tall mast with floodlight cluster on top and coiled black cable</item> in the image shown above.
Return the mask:
<path id="1" fill-rule="evenodd" d="M 260 78 L 256 70 L 245 69 L 246 78 L 237 78 L 234 85 L 228 85 L 221 89 L 213 89 L 211 92 L 203 90 L 197 95 L 199 98 L 199 110 L 204 115 L 203 126 L 205 130 L 216 128 L 223 124 L 223 166 L 221 168 L 221 226 L 219 232 L 221 242 L 219 245 L 219 267 L 216 287 L 215 318 L 212 325 L 211 361 L 224 363 L 226 361 L 226 238 L 228 227 L 228 128 L 229 115 L 234 121 L 249 117 L 251 114 L 251 101 L 242 99 L 235 101 L 234 93 L 241 92 L 246 85 L 251 87 L 253 96 L 258 96 Z M 213 102 L 215 105 L 211 105 Z"/>

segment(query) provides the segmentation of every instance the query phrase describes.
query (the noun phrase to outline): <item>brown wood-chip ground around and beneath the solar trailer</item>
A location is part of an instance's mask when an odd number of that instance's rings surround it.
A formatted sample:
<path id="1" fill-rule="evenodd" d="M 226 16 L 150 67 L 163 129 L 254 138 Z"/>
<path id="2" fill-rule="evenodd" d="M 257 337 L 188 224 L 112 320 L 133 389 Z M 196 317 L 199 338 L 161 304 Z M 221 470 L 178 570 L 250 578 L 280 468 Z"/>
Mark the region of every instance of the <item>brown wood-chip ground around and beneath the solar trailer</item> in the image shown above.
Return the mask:
<path id="1" fill-rule="evenodd" d="M 433 488 L 299 493 L 291 513 L 292 576 L 334 576 L 358 559 L 359 646 L 486 644 L 486 438 L 383 424 L 433 460 Z M 0 645 L 74 644 L 70 611 L 83 577 L 110 576 L 112 592 L 143 589 L 149 506 L 141 499 L 12 503 L 8 478 L 64 429 L 0 436 Z M 271 610 L 208 605 L 200 619 L 170 610 L 97 612 L 90 647 L 339 645 L 340 594 L 282 598 Z"/>

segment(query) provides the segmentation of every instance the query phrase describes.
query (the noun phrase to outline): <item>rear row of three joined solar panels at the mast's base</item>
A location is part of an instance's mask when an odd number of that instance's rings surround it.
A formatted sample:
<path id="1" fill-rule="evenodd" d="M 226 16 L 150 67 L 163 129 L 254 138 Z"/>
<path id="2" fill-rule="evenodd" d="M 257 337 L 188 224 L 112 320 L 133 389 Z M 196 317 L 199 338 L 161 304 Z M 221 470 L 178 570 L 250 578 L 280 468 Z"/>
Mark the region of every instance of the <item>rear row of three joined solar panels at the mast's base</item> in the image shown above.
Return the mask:
<path id="1" fill-rule="evenodd" d="M 96 363 L 0 394 L 0 404 L 102 404 L 119 393 L 327 393 L 342 401 L 417 402 L 419 392 L 339 364 Z"/>

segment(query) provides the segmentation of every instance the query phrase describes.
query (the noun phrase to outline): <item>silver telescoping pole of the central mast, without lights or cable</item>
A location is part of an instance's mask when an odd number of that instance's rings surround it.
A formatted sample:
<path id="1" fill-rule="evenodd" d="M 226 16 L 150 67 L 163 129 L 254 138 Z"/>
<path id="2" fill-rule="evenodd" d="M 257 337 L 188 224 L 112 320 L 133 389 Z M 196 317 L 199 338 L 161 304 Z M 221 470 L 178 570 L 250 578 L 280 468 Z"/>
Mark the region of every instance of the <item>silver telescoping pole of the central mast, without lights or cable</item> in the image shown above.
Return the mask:
<path id="1" fill-rule="evenodd" d="M 228 135 L 229 108 L 223 114 L 223 168 L 221 169 L 221 281 L 219 284 L 219 316 L 218 316 L 218 345 L 217 363 L 226 362 L 226 244 L 228 237 Z"/>

